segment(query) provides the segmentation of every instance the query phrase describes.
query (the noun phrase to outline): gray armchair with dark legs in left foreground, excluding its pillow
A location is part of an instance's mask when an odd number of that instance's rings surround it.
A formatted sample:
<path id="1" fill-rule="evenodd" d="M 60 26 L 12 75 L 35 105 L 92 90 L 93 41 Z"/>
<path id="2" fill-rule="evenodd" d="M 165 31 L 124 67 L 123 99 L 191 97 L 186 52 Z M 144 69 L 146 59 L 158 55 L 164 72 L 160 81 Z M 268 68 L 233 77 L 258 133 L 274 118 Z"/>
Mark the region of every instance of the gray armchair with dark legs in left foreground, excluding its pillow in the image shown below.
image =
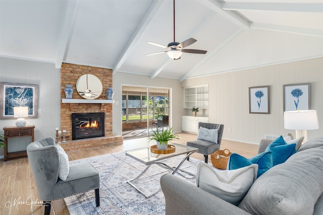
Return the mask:
<path id="1" fill-rule="evenodd" d="M 69 165 L 66 181 L 59 178 L 59 153 L 55 139 L 43 138 L 27 146 L 29 165 L 36 182 L 39 198 L 45 205 L 45 214 L 50 213 L 52 200 L 95 189 L 96 206 L 100 206 L 98 172 L 88 163 Z"/>

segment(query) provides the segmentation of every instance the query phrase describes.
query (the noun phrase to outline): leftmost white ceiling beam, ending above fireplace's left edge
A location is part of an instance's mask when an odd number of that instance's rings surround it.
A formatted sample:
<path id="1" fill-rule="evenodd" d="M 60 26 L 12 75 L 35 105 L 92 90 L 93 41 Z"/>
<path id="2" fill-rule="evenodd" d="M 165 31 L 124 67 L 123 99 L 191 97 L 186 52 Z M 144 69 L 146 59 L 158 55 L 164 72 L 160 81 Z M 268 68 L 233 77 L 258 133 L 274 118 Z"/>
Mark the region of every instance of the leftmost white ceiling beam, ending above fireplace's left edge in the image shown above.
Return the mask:
<path id="1" fill-rule="evenodd" d="M 66 48 L 68 47 L 68 44 L 71 39 L 72 31 L 73 31 L 73 25 L 75 23 L 75 17 L 76 17 L 76 8 L 77 8 L 78 2 L 77 1 L 68 1 L 67 2 L 67 10 L 65 13 L 65 19 L 64 23 L 61 29 L 61 34 L 58 42 L 58 49 L 57 49 L 57 55 L 56 55 L 56 62 L 55 67 L 61 68 L 62 62 L 66 53 Z"/>

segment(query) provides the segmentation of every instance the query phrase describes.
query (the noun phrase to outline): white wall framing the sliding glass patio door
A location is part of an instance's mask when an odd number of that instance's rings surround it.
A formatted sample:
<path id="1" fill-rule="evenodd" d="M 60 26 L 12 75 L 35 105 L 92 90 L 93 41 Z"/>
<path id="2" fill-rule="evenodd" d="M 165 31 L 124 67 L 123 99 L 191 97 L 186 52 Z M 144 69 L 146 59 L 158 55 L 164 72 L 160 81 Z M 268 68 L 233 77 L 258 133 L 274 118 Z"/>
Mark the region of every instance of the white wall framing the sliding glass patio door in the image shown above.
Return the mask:
<path id="1" fill-rule="evenodd" d="M 182 130 L 182 115 L 183 115 L 183 89 L 179 80 L 154 78 L 149 76 L 141 76 L 129 73 L 116 73 L 113 75 L 114 100 L 119 102 L 119 105 L 113 105 L 113 134 L 122 134 L 122 85 L 136 85 L 147 87 L 163 87 L 171 88 L 172 95 L 170 96 L 170 109 L 172 116 L 172 127 L 174 132 Z"/>

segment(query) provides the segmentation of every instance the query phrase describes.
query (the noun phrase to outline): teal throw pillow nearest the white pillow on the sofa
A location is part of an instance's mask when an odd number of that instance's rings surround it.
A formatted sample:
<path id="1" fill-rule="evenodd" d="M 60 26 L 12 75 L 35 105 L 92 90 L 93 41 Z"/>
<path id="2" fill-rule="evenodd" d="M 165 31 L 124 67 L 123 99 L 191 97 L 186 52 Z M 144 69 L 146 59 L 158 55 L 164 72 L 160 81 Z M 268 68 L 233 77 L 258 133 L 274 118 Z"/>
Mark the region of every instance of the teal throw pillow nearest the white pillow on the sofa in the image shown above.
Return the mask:
<path id="1" fill-rule="evenodd" d="M 242 167 L 258 164 L 257 178 L 268 169 L 273 167 L 272 152 L 263 152 L 252 158 L 244 158 L 241 155 L 232 153 L 228 161 L 228 170 L 236 170 Z"/>

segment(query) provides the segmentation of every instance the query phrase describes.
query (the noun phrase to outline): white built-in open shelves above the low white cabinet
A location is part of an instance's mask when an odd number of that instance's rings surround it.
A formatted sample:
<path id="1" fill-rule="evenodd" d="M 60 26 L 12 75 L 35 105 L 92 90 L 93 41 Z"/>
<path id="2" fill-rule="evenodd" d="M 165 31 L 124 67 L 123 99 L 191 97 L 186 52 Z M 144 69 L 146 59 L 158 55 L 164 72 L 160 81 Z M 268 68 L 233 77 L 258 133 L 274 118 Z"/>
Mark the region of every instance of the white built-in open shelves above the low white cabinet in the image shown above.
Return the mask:
<path id="1" fill-rule="evenodd" d="M 184 88 L 184 108 L 208 109 L 208 85 Z"/>

